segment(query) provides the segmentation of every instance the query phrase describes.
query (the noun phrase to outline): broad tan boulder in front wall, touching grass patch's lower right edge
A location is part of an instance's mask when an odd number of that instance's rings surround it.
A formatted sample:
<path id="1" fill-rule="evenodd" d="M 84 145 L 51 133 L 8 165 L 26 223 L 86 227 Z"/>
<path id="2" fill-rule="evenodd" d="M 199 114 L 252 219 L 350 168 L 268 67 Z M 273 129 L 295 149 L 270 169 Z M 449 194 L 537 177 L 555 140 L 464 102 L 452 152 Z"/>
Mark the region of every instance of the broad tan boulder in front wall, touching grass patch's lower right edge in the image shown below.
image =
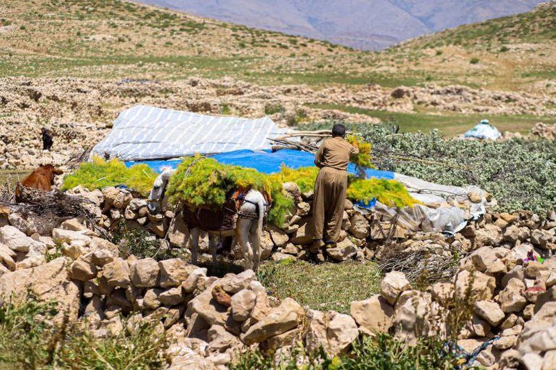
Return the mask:
<path id="1" fill-rule="evenodd" d="M 350 313 L 364 332 L 375 334 L 390 329 L 394 309 L 386 299 L 375 294 L 366 300 L 354 300 L 350 305 Z"/>

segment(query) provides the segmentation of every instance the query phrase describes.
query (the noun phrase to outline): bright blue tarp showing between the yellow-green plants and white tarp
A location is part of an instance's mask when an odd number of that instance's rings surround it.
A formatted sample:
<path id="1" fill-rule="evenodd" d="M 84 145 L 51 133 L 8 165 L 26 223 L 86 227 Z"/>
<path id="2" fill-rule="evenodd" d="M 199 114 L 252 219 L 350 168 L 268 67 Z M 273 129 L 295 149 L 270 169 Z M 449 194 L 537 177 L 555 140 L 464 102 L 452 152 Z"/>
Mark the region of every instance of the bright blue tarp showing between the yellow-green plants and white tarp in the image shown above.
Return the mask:
<path id="1" fill-rule="evenodd" d="M 314 166 L 315 156 L 311 153 L 301 152 L 300 150 L 283 149 L 277 152 L 271 150 L 235 150 L 234 152 L 227 152 L 215 154 L 211 156 L 220 163 L 231 164 L 236 166 L 243 166 L 254 168 L 263 173 L 276 173 L 280 171 L 282 163 L 290 168 L 300 168 Z M 181 159 L 171 159 L 167 161 L 128 161 L 127 167 L 134 164 L 145 163 L 156 172 L 162 172 L 163 168 L 171 167 L 176 168 Z M 350 163 L 347 168 L 350 173 L 356 173 L 355 166 Z M 393 179 L 394 172 L 367 170 L 366 177 L 377 177 L 378 179 Z"/>

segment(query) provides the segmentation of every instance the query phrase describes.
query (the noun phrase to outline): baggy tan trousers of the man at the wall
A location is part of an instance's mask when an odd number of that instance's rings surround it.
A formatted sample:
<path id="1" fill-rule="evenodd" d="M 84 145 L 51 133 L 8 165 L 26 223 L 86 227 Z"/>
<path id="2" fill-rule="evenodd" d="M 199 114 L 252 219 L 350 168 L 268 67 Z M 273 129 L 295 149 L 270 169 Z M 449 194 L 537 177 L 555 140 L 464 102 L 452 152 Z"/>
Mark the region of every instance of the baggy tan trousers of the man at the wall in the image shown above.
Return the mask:
<path id="1" fill-rule="evenodd" d="M 320 169 L 313 199 L 313 239 L 338 241 L 346 190 L 346 171 L 330 167 Z"/>

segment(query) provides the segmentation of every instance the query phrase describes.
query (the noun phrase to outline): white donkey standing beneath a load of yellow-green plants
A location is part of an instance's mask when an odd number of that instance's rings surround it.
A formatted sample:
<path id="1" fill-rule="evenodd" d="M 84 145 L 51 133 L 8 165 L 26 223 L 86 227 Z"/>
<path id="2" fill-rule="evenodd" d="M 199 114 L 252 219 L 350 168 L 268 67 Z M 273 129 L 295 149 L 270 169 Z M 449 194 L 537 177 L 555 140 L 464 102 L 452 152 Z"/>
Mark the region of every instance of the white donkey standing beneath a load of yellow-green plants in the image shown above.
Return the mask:
<path id="1" fill-rule="evenodd" d="M 154 180 L 152 191 L 148 199 L 148 208 L 151 214 L 159 214 L 167 204 L 166 186 L 174 170 L 165 169 Z M 238 209 L 238 220 L 234 231 L 234 243 L 239 243 L 244 252 L 244 268 L 254 271 L 259 268 L 261 262 L 261 236 L 263 234 L 263 218 L 267 204 L 261 192 L 250 190 L 243 198 L 243 204 Z M 181 213 L 183 215 L 183 213 Z M 243 215 L 254 215 L 254 218 Z M 215 217 L 218 217 L 215 214 Z M 191 261 L 197 264 L 199 254 L 200 227 L 190 228 Z M 213 257 L 213 265 L 216 262 L 216 247 L 220 232 L 208 232 L 208 248 Z M 185 246 L 184 246 L 185 247 Z"/>

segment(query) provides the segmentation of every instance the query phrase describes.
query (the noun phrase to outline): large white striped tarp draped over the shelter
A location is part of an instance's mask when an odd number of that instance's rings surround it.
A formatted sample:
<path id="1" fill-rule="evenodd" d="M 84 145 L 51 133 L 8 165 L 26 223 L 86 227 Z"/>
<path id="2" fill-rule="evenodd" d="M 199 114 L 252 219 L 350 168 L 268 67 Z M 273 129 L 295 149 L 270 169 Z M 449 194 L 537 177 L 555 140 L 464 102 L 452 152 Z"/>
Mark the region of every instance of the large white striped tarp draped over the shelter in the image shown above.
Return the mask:
<path id="1" fill-rule="evenodd" d="M 268 138 L 287 131 L 268 117 L 214 117 L 138 105 L 117 116 L 112 131 L 95 145 L 90 156 L 140 161 L 195 153 L 265 150 L 271 149 Z"/>

